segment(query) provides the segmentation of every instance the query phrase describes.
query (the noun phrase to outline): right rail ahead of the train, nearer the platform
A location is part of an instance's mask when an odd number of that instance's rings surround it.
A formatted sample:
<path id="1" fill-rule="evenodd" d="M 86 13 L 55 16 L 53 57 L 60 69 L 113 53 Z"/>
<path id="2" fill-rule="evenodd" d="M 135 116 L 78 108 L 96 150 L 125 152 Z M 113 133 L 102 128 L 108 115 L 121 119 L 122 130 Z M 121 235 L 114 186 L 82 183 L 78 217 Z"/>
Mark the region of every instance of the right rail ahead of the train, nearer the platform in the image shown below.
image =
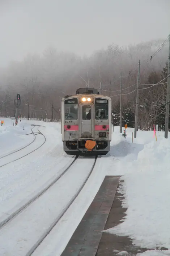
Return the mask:
<path id="1" fill-rule="evenodd" d="M 65 212 L 68 210 L 68 208 L 71 206 L 71 204 L 75 201 L 77 196 L 80 194 L 81 190 L 84 188 L 86 182 L 88 181 L 90 175 L 92 174 L 92 171 L 94 169 L 95 163 L 97 161 L 97 157 L 95 157 L 94 163 L 90 169 L 90 172 L 84 182 L 82 183 L 81 187 L 78 189 L 77 193 L 72 197 L 70 202 L 65 206 L 64 210 L 60 213 L 60 215 L 55 219 L 55 221 L 50 225 L 50 227 L 44 232 L 44 234 L 39 238 L 39 240 L 33 245 L 33 247 L 29 250 L 29 252 L 26 253 L 25 256 L 31 256 L 33 252 L 37 249 L 37 247 L 42 243 L 42 241 L 46 238 L 46 236 L 50 233 L 50 231 L 55 227 L 55 225 L 59 222 L 59 220 L 62 218 L 62 216 L 65 214 Z"/>

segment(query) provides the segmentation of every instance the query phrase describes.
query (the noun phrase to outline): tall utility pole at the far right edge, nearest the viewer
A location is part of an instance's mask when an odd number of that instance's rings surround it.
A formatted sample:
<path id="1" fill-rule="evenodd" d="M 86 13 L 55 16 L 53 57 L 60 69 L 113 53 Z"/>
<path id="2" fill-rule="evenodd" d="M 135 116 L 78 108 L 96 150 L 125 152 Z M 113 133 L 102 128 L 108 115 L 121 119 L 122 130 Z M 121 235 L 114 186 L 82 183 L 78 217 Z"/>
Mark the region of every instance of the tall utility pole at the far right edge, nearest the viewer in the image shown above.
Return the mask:
<path id="1" fill-rule="evenodd" d="M 166 88 L 166 114 L 165 114 L 165 138 L 168 137 L 169 127 L 169 93 L 170 93 L 170 34 L 169 34 L 169 56 L 168 56 L 168 69 L 167 69 L 167 88 Z"/>

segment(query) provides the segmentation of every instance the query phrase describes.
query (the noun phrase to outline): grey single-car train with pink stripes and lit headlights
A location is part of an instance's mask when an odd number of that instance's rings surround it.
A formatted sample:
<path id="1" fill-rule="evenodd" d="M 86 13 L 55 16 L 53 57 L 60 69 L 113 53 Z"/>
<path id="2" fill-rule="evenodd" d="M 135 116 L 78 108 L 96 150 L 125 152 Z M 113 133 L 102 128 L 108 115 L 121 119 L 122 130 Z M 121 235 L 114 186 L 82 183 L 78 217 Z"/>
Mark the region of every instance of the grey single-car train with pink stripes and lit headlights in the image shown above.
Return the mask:
<path id="1" fill-rule="evenodd" d="M 63 97 L 61 135 L 68 155 L 106 155 L 112 138 L 111 98 L 89 87 Z"/>

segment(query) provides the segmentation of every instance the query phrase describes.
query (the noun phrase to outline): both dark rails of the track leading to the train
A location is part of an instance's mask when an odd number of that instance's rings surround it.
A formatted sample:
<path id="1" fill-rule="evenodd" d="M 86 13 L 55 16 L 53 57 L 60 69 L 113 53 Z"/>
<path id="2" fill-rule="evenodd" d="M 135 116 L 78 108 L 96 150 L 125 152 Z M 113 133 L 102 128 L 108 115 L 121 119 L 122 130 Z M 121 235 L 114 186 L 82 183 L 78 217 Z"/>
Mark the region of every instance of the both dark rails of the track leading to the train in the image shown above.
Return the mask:
<path id="1" fill-rule="evenodd" d="M 35 200 L 37 200 L 38 198 L 40 198 L 47 190 L 49 190 L 49 188 L 51 188 L 69 169 L 75 169 L 73 166 L 73 164 L 77 161 L 77 159 L 81 159 L 78 157 L 75 157 L 74 160 L 71 162 L 71 164 L 69 164 L 69 166 L 67 168 L 65 168 L 65 170 L 55 179 L 53 180 L 47 187 L 45 187 L 42 191 L 40 191 L 37 195 L 35 195 L 33 198 L 31 198 L 27 203 L 25 203 L 22 207 L 20 207 L 17 211 L 13 212 L 13 214 L 11 214 L 8 218 L 6 218 L 5 220 L 3 220 L 0 223 L 0 228 L 2 229 L 4 226 L 8 225 L 8 223 L 10 221 L 14 221 L 15 217 L 20 214 L 23 210 L 25 210 L 28 206 L 30 206 L 31 203 L 33 203 Z M 59 222 L 59 220 L 62 218 L 62 216 L 65 214 L 65 212 L 68 210 L 68 208 L 71 206 L 71 204 L 75 201 L 75 199 L 77 198 L 77 196 L 80 194 L 80 192 L 82 191 L 82 189 L 84 188 L 86 182 L 88 181 L 90 175 L 92 174 L 92 171 L 95 167 L 95 163 L 97 161 L 97 157 L 95 157 L 94 161 L 92 161 L 92 166 L 90 167 L 90 170 L 88 172 L 88 175 L 86 175 L 86 178 L 84 179 L 84 181 L 82 182 L 80 188 L 78 188 L 78 190 L 76 191 L 76 193 L 71 197 L 71 199 L 69 200 L 69 202 L 64 206 L 63 210 L 59 213 L 59 215 L 56 217 L 56 219 L 52 222 L 51 225 L 48 225 L 48 228 L 44 231 L 44 233 L 42 233 L 42 235 L 39 237 L 39 239 L 37 240 L 37 242 L 35 244 L 33 244 L 33 246 L 28 250 L 28 252 L 25 254 L 25 256 L 31 256 L 33 254 L 33 252 L 37 249 L 37 247 L 42 243 L 42 241 L 46 238 L 46 236 L 48 235 L 48 233 L 50 233 L 50 231 L 55 227 L 55 225 Z M 78 163 L 76 162 L 76 164 L 78 165 Z M 82 162 L 79 162 L 79 164 L 82 164 Z M 72 168 L 71 168 L 72 167 Z M 80 170 L 81 171 L 81 170 Z M 50 190 L 51 191 L 51 190 Z M 46 193 L 45 193 L 46 194 Z M 24 212 L 23 212 L 24 214 Z M 13 226 L 13 225 L 12 225 Z M 9 229 L 9 227 L 7 228 Z M 1 230 L 1 233 L 3 233 L 3 230 Z M 24 253 L 22 253 L 23 255 Z"/>

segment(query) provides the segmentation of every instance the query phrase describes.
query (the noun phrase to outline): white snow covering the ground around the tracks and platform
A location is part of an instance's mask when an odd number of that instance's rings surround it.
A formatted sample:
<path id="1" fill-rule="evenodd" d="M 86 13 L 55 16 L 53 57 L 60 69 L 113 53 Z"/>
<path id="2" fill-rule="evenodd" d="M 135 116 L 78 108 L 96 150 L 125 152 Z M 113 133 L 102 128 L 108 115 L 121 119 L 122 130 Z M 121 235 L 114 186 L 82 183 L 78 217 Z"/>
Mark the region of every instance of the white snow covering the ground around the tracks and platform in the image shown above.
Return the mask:
<path id="1" fill-rule="evenodd" d="M 42 190 L 73 160 L 63 152 L 59 123 L 23 119 L 18 126 L 12 126 L 10 119 L 4 120 L 5 125 L 0 126 L 0 157 L 33 141 L 33 134 L 29 134 L 33 128 L 31 124 L 42 125 L 39 130 L 46 136 L 46 143 L 26 157 L 0 168 L 0 222 Z M 37 128 L 33 131 L 36 132 Z M 138 255 L 170 255 L 170 134 L 165 139 L 163 132 L 157 132 L 156 142 L 153 131 L 138 131 L 137 138 L 132 143 L 132 131 L 133 129 L 128 129 L 128 137 L 123 138 L 119 127 L 114 127 L 110 153 L 97 160 L 81 194 L 33 253 L 34 256 L 60 256 L 105 175 L 122 175 L 120 192 L 124 196 L 123 207 L 127 208 L 127 216 L 122 223 L 106 232 L 129 236 L 133 244 L 148 248 L 148 251 Z M 43 143 L 43 136 L 36 136 L 35 142 L 25 148 L 26 153 Z M 0 166 L 4 159 L 10 162 L 14 155 L 21 155 L 19 152 L 0 159 Z M 36 204 L 33 203 L 30 208 L 32 210 L 27 208 L 17 217 L 18 220 L 15 219 L 16 222 L 11 222 L 10 229 L 0 229 L 0 255 L 23 255 L 24 248 L 29 248 L 31 240 L 38 240 L 41 232 L 50 225 L 64 204 L 67 204 L 71 196 L 68 191 L 74 193 L 77 186 L 81 186 L 80 183 L 89 171 L 88 166 L 91 165 L 90 161 L 86 164 L 75 163 L 77 169 L 70 170 Z M 87 167 L 87 172 L 84 167 Z M 80 171 L 81 175 L 78 175 Z M 31 220 L 33 224 L 37 224 L 34 227 L 36 230 L 31 228 Z M 12 232 L 17 227 L 16 236 Z M 21 231 L 25 231 L 25 234 Z M 156 250 L 158 247 L 169 250 Z"/>

